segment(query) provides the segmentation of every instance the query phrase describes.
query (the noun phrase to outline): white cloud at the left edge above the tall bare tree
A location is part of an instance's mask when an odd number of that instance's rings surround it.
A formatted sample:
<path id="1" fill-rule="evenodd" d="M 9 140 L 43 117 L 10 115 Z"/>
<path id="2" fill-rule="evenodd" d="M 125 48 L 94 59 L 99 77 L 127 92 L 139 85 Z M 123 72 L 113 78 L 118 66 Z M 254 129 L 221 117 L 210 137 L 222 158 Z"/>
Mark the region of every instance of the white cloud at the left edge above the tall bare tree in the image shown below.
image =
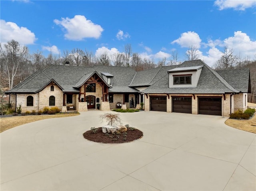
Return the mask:
<path id="1" fill-rule="evenodd" d="M 19 27 L 16 23 L 0 20 L 1 43 L 6 43 L 12 39 L 21 45 L 34 44 L 37 40 L 36 35 L 26 27 Z"/>

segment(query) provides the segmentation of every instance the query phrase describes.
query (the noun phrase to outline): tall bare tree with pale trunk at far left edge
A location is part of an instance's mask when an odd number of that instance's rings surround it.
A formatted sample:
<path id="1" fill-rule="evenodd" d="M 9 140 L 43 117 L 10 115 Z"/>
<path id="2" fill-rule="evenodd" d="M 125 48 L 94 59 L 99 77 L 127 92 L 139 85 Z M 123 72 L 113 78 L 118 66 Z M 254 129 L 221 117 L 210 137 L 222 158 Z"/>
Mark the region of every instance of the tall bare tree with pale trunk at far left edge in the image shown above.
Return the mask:
<path id="1" fill-rule="evenodd" d="M 22 46 L 18 41 L 10 40 L 4 47 L 0 43 L 1 62 L 6 66 L 9 88 L 14 85 L 14 78 L 18 75 L 17 70 L 19 65 L 28 56 L 28 47 Z"/>

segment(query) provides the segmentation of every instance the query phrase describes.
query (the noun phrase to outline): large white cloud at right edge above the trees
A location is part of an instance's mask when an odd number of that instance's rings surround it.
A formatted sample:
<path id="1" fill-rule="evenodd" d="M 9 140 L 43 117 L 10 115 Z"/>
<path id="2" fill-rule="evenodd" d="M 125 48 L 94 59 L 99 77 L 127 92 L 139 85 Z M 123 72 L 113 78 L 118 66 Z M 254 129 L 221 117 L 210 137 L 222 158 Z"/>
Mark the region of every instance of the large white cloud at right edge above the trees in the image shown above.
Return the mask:
<path id="1" fill-rule="evenodd" d="M 233 37 L 224 39 L 224 45 L 232 48 L 236 55 L 242 55 L 243 57 L 254 57 L 256 53 L 256 41 L 252 41 L 246 33 L 241 31 L 234 32 Z"/>

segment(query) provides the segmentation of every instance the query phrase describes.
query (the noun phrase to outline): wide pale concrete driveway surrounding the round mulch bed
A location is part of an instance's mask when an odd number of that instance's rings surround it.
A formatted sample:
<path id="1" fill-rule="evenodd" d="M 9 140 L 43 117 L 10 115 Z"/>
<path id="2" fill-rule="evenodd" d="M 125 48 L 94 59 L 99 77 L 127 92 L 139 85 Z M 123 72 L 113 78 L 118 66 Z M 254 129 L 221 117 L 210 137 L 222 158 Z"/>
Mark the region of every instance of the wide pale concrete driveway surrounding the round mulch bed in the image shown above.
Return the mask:
<path id="1" fill-rule="evenodd" d="M 221 116 L 120 113 L 144 132 L 126 144 L 99 144 L 83 132 L 102 111 L 81 112 L 0 134 L 1 191 L 256 190 L 256 134 Z"/>

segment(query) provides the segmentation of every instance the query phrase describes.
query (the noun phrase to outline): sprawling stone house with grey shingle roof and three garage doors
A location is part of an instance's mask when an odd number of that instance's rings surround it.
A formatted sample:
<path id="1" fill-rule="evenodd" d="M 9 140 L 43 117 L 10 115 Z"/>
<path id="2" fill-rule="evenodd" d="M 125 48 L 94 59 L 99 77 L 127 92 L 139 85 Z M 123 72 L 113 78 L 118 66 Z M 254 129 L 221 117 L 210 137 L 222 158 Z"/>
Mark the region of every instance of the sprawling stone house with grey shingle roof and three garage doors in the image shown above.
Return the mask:
<path id="1" fill-rule="evenodd" d="M 129 67 L 51 65 L 6 91 L 22 111 L 58 106 L 78 111 L 140 108 L 146 111 L 229 116 L 247 108 L 249 69 L 214 71 L 201 60 L 145 71 Z"/>

